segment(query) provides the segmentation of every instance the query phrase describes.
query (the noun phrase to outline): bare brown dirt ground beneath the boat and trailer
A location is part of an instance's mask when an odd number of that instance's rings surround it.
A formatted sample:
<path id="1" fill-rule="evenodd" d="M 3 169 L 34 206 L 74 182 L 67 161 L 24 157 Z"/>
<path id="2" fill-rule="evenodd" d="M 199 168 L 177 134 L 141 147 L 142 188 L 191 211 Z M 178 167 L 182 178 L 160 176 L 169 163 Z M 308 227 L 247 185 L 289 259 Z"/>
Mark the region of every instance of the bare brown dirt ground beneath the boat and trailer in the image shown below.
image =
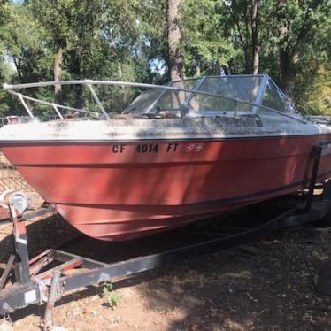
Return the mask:
<path id="1" fill-rule="evenodd" d="M 12 247 L 8 233 L 8 226 L 0 229 L 2 263 Z M 31 223 L 27 234 L 31 256 L 77 237 L 58 217 Z M 171 235 L 124 246 L 83 238 L 65 250 L 111 262 L 143 244 L 154 250 Z M 173 236 L 181 241 L 181 234 Z M 249 242 L 249 250 L 221 250 L 115 282 L 109 296 L 114 307 L 104 286 L 67 295 L 56 304 L 54 324 L 67 330 L 331 330 L 331 296 L 314 287 L 330 242 L 328 227 L 280 230 Z M 44 306 L 32 306 L 12 313 L 14 330 L 39 330 L 43 312 Z"/>

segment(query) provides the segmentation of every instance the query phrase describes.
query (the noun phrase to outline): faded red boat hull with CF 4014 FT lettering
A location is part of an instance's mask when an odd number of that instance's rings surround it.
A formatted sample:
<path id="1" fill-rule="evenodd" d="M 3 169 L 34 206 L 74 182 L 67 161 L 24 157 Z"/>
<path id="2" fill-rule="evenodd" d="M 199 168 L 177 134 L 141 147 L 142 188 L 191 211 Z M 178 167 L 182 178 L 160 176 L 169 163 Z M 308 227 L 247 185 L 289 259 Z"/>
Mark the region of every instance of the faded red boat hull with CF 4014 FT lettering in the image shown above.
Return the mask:
<path id="1" fill-rule="evenodd" d="M 73 227 L 128 240 L 304 188 L 331 135 L 189 142 L 14 142 L 2 151 Z M 324 156 L 319 178 L 331 176 Z"/>

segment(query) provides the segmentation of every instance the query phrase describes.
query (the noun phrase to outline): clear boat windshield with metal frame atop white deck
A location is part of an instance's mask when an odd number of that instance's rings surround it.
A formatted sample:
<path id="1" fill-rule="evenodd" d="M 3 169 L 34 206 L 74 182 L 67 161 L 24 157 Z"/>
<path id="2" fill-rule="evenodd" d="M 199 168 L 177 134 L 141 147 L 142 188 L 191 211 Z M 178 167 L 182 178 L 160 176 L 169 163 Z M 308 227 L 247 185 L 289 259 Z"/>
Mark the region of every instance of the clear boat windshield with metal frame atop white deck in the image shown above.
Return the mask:
<path id="1" fill-rule="evenodd" d="M 267 75 L 204 76 L 173 81 L 177 89 L 149 89 L 129 104 L 124 113 L 178 112 L 186 107 L 194 112 L 277 112 L 296 113 L 296 109 Z M 259 107 L 262 105 L 262 107 Z"/>

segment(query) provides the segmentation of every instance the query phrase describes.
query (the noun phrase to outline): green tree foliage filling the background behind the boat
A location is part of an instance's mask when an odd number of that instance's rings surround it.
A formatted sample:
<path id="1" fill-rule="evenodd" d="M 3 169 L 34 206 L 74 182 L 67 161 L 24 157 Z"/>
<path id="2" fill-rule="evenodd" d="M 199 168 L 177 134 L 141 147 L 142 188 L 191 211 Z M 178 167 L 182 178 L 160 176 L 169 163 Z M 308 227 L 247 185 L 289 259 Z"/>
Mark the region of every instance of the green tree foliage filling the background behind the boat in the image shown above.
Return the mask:
<path id="1" fill-rule="evenodd" d="M 62 79 L 164 83 L 166 8 L 163 0 L 0 0 L 0 83 L 52 81 L 59 47 Z M 248 0 L 181 0 L 185 75 L 251 73 L 251 11 Z M 259 72 L 293 93 L 300 110 L 331 113 L 331 2 L 260 1 L 258 27 Z M 54 100 L 51 89 L 30 92 Z M 108 111 L 119 112 L 139 89 L 96 92 L 108 96 Z M 66 104 L 96 109 L 87 89 L 63 88 L 62 96 Z M 0 90 L 0 112 L 14 109 L 22 111 Z"/>

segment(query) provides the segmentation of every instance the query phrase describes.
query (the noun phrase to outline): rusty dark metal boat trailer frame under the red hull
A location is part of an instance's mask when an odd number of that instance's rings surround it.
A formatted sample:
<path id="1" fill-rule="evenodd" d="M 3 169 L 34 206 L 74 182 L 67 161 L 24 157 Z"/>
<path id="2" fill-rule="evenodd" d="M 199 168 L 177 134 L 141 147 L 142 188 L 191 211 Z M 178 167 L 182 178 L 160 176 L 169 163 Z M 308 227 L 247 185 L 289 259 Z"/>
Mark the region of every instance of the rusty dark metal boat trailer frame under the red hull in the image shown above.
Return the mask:
<path id="1" fill-rule="evenodd" d="M 29 259 L 25 223 L 34 215 L 31 216 L 31 213 L 30 216 L 26 216 L 24 213 L 19 215 L 15 205 L 8 202 L 15 252 L 8 259 L 0 278 L 0 316 L 6 316 L 8 313 L 30 304 L 46 302 L 43 327 L 45 330 L 50 330 L 54 305 L 67 291 L 111 281 L 114 277 L 142 273 L 172 264 L 178 260 L 210 254 L 258 238 L 262 234 L 281 227 L 293 227 L 322 219 L 328 212 L 331 212 L 331 181 L 325 183 L 321 199 L 313 200 L 313 194 L 318 180 L 320 157 L 330 153 L 331 142 L 322 143 L 312 148 L 312 175 L 305 202 L 282 212 L 281 215 L 268 220 L 263 225 L 239 234 L 112 264 L 53 249 L 46 250 L 35 258 Z M 44 212 L 50 211 L 45 210 Z M 35 214 L 40 216 L 41 213 L 36 212 Z M 65 274 L 68 271 L 73 272 L 73 269 L 76 268 L 79 268 L 79 273 Z M 15 282 L 11 284 L 12 276 L 14 276 Z"/>

